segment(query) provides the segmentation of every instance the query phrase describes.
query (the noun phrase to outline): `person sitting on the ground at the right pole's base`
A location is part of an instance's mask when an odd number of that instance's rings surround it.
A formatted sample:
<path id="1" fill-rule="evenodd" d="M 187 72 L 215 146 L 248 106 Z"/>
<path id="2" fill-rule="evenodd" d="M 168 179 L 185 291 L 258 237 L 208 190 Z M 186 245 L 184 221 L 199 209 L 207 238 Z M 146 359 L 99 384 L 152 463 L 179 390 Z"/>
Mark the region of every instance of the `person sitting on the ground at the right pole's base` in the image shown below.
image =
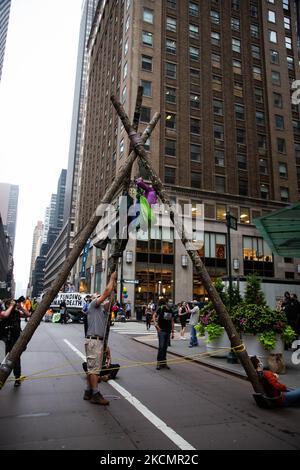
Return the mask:
<path id="1" fill-rule="evenodd" d="M 293 390 L 280 383 L 277 374 L 263 369 L 257 356 L 250 357 L 250 360 L 257 372 L 259 382 L 263 386 L 266 398 L 271 399 L 278 407 L 300 405 L 300 388 Z"/>

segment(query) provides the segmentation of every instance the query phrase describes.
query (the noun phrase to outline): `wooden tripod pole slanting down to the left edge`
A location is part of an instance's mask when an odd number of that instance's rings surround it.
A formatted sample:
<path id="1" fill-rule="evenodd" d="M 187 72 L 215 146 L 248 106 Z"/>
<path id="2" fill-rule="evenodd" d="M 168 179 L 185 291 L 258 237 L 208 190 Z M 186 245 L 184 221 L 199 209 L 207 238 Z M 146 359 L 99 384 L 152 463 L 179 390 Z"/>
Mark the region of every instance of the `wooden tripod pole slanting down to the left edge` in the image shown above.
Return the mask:
<path id="1" fill-rule="evenodd" d="M 158 123 L 159 119 L 160 119 L 160 114 L 156 113 L 153 116 L 147 128 L 144 130 L 142 136 L 136 137 L 136 141 L 139 142 L 140 145 L 143 146 L 143 144 L 147 141 L 153 129 L 155 128 L 156 124 Z M 51 305 L 51 302 L 53 301 L 53 299 L 59 292 L 61 286 L 63 286 L 64 283 L 66 282 L 69 276 L 69 273 L 72 267 L 74 266 L 74 264 L 76 263 L 77 259 L 79 258 L 80 253 L 86 241 L 91 236 L 91 234 L 97 227 L 101 217 L 103 216 L 105 209 L 107 207 L 107 204 L 110 204 L 113 201 L 115 195 L 120 190 L 120 187 L 122 187 L 124 178 L 126 178 L 128 173 L 131 172 L 132 165 L 134 161 L 136 160 L 136 158 L 137 158 L 137 154 L 134 151 L 131 152 L 128 158 L 126 159 L 126 161 L 124 162 L 124 166 L 120 168 L 120 170 L 118 171 L 115 180 L 113 181 L 109 189 L 106 191 L 95 213 L 93 214 L 89 222 L 86 224 L 86 226 L 83 228 L 83 230 L 76 237 L 74 246 L 72 250 L 70 251 L 68 257 L 66 258 L 64 264 L 62 265 L 61 270 L 58 273 L 55 281 L 52 283 L 49 290 L 43 296 L 41 303 L 39 304 L 35 312 L 32 314 L 30 321 L 27 323 L 26 327 L 22 331 L 20 337 L 14 344 L 12 350 L 10 351 L 10 353 L 6 356 L 6 358 L 0 365 L 0 390 L 5 384 L 8 376 L 10 375 L 14 367 L 14 364 L 19 359 L 22 352 L 26 349 L 27 344 L 29 343 L 35 330 L 39 326 L 43 316 L 45 315 L 47 309 L 49 308 L 49 305 Z"/>

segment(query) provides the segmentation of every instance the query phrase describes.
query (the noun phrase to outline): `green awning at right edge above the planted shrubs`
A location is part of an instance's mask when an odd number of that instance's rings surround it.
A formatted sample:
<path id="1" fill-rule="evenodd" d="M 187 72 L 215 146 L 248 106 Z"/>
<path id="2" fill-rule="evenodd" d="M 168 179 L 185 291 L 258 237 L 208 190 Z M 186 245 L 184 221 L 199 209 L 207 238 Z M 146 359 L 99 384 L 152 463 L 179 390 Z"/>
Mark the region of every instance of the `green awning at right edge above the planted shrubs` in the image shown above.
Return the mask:
<path id="1" fill-rule="evenodd" d="M 300 258 L 300 202 L 254 219 L 273 253 Z"/>

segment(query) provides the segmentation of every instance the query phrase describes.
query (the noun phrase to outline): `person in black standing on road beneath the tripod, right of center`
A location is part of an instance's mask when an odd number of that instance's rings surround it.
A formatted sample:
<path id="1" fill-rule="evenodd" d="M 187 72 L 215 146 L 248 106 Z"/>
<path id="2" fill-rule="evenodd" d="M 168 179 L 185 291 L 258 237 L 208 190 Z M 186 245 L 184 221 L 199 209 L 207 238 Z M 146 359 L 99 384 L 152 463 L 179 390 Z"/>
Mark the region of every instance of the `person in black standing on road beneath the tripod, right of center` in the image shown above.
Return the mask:
<path id="1" fill-rule="evenodd" d="M 162 367 L 170 369 L 167 365 L 167 349 L 170 343 L 170 336 L 172 335 L 172 338 L 174 338 L 174 316 L 165 299 L 160 300 L 159 307 L 154 313 L 153 319 L 158 336 L 156 369 L 160 370 Z"/>

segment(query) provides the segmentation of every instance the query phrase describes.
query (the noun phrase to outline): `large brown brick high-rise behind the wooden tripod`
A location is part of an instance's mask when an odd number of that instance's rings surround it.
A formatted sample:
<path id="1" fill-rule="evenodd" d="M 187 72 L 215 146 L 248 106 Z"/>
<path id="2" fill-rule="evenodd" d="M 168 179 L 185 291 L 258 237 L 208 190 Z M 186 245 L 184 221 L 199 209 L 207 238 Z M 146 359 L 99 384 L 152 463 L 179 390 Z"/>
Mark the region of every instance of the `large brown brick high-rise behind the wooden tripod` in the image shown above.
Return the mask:
<path id="1" fill-rule="evenodd" d="M 132 119 L 142 85 L 140 130 L 161 113 L 149 158 L 172 200 L 191 204 L 192 216 L 203 204 L 199 254 L 211 277 L 228 276 L 230 211 L 238 220 L 235 278 L 258 272 L 271 300 L 282 294 L 282 282 L 295 290 L 297 260 L 274 256 L 253 219 L 299 200 L 300 116 L 291 101 L 300 78 L 296 14 L 294 0 L 102 2 L 89 43 L 79 229 L 129 151 L 110 96 Z M 132 302 L 204 294 L 181 242 L 162 236 L 131 248 L 136 255 L 124 276 L 139 281 L 128 285 Z M 97 255 L 90 259 L 94 267 Z"/>

